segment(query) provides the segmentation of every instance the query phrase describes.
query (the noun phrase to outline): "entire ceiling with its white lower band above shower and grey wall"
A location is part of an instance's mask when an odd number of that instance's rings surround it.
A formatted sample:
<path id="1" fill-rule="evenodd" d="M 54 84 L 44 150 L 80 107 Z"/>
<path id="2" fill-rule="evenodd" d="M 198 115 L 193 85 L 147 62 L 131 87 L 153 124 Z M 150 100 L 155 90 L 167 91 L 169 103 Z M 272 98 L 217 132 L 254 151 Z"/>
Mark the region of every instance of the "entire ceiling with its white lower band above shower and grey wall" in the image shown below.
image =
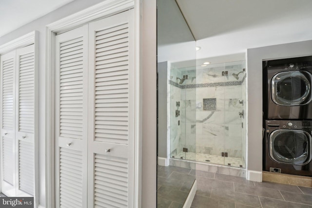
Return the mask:
<path id="1" fill-rule="evenodd" d="M 311 40 L 311 8 L 312 0 L 157 0 L 157 60 L 228 62 L 247 49 Z"/>

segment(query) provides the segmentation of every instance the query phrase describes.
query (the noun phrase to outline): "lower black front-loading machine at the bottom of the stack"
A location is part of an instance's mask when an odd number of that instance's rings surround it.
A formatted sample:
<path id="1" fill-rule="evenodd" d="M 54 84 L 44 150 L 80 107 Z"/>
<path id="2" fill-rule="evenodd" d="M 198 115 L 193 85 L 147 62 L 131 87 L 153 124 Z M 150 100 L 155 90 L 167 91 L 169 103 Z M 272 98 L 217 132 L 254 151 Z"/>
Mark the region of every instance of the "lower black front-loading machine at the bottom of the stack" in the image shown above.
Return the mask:
<path id="1" fill-rule="evenodd" d="M 265 121 L 264 170 L 312 176 L 312 121 Z"/>

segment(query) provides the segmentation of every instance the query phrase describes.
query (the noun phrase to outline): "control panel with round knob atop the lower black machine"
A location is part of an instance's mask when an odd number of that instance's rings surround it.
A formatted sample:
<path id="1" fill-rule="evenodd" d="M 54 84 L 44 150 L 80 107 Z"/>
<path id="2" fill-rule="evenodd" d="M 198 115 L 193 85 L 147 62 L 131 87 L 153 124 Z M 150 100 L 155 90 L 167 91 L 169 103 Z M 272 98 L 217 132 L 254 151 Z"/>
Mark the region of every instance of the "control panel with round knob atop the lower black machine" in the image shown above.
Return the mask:
<path id="1" fill-rule="evenodd" d="M 312 120 L 266 120 L 266 129 L 270 128 L 312 130 Z"/>

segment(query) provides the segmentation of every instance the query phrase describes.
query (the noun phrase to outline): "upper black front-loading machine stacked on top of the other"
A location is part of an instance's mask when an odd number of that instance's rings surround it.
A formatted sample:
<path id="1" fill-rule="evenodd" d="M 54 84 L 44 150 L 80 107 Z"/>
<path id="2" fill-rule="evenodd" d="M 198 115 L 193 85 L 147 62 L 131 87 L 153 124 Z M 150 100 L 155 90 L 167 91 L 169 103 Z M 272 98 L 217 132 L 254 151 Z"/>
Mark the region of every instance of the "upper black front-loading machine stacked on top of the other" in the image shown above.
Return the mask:
<path id="1" fill-rule="evenodd" d="M 312 119 L 312 56 L 263 61 L 264 119 Z"/>

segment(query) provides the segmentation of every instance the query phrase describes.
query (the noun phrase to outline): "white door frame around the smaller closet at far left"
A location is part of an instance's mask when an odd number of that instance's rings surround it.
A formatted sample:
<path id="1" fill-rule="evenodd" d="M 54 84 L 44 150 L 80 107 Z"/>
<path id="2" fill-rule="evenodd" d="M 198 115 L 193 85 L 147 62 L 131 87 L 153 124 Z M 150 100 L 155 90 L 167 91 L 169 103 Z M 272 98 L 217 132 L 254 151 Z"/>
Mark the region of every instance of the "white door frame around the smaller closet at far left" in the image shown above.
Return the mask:
<path id="1" fill-rule="evenodd" d="M 3 45 L 0 45 L 0 55 L 6 54 L 10 51 L 34 44 L 35 45 L 35 64 L 34 64 L 34 88 L 35 88 L 35 102 L 34 107 L 38 109 L 39 107 L 39 85 L 38 85 L 38 65 L 39 65 L 39 32 L 33 31 L 28 33 L 20 38 L 16 38 L 10 42 L 7 42 Z M 35 170 L 34 170 L 34 203 L 37 207 L 39 205 L 39 111 L 34 112 L 34 122 L 35 122 L 35 129 L 34 129 L 34 163 L 35 163 Z M 0 132 L 2 135 L 3 132 Z"/>

